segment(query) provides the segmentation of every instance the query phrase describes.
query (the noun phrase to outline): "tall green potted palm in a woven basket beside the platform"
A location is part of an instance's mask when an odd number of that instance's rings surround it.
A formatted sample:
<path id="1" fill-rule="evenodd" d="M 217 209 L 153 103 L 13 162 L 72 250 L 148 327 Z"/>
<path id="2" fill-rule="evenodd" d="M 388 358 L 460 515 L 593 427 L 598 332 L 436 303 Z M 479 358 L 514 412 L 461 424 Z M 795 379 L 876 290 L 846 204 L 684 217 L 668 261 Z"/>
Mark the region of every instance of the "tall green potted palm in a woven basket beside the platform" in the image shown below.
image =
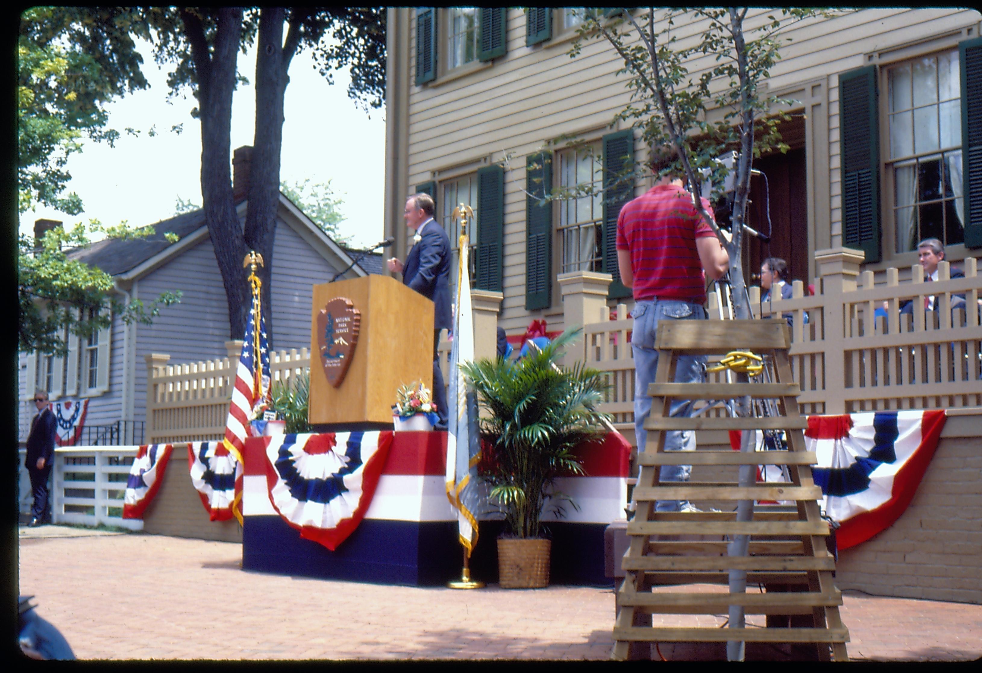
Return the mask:
<path id="1" fill-rule="evenodd" d="M 558 364 L 581 330 L 569 329 L 518 362 L 505 358 L 464 363 L 477 392 L 481 419 L 481 473 L 492 504 L 504 514 L 508 533 L 498 539 L 498 569 L 505 588 L 549 584 L 551 542 L 544 537 L 547 504 L 562 514 L 556 477 L 583 474 L 573 449 L 606 431 L 609 416 L 597 411 L 608 385 L 603 371 Z"/>

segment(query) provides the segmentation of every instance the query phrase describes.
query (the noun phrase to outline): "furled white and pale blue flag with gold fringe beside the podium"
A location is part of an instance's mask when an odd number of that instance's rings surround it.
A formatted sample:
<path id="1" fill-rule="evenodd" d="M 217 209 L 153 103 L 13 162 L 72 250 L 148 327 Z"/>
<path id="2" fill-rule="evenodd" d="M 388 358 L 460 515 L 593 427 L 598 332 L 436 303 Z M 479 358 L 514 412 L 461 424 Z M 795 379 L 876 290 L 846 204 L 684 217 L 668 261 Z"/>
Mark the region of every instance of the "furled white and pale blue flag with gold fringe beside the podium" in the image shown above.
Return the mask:
<path id="1" fill-rule="evenodd" d="M 457 310 L 450 351 L 450 385 L 447 395 L 447 497 L 457 510 L 461 544 L 469 557 L 477 544 L 477 460 L 480 434 L 477 397 L 464 380 L 460 364 L 474 359 L 474 322 L 467 274 L 467 239 L 461 236 L 461 260 L 457 271 Z"/>

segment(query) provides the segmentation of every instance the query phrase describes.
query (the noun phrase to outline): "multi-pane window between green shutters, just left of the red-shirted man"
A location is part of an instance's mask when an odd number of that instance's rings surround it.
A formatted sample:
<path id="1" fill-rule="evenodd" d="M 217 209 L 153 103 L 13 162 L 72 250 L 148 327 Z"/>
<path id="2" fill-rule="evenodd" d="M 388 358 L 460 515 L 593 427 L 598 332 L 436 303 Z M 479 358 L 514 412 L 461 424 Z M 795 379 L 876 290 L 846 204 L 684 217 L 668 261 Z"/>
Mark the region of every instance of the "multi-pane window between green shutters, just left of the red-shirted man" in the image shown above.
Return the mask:
<path id="1" fill-rule="evenodd" d="M 601 270 L 598 233 L 603 219 L 603 196 L 598 153 L 599 146 L 592 147 L 592 151 L 559 152 L 560 190 L 589 185 L 596 191 L 592 196 L 567 198 L 559 203 L 560 273 Z"/>

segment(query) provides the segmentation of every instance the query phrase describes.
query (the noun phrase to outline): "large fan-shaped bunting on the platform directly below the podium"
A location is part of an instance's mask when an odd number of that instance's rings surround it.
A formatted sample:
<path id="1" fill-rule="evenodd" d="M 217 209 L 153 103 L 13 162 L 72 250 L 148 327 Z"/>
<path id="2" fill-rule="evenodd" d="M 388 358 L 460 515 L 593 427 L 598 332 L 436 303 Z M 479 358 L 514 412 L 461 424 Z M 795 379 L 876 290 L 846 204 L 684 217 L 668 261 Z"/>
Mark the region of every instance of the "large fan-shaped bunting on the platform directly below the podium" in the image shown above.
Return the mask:
<path id="1" fill-rule="evenodd" d="M 300 537 L 334 551 L 371 504 L 392 432 L 281 434 L 266 447 L 273 508 Z"/>

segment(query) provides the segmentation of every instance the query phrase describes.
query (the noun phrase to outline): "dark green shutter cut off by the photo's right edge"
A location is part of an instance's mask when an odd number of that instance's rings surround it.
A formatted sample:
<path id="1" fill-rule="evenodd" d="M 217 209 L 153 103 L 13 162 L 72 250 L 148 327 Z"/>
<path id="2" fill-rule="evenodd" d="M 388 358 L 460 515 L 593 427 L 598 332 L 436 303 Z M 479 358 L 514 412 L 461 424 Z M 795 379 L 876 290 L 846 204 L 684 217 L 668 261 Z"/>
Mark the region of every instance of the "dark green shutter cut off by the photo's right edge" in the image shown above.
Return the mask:
<path id="1" fill-rule="evenodd" d="M 958 44 L 965 247 L 982 247 L 982 37 Z"/>

